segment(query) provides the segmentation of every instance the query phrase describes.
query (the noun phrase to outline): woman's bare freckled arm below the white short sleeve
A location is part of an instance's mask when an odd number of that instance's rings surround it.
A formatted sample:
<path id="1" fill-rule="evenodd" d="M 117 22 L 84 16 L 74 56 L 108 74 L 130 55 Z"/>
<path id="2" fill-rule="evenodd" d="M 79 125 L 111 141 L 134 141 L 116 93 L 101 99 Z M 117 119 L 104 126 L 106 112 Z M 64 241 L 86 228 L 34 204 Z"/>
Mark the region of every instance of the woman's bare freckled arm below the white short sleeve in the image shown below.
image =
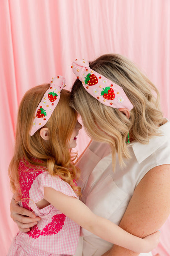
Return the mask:
<path id="1" fill-rule="evenodd" d="M 140 181 L 119 226 L 139 237 L 158 230 L 170 214 L 170 165 L 151 169 Z M 123 247 L 113 248 L 103 256 L 138 256 Z"/>

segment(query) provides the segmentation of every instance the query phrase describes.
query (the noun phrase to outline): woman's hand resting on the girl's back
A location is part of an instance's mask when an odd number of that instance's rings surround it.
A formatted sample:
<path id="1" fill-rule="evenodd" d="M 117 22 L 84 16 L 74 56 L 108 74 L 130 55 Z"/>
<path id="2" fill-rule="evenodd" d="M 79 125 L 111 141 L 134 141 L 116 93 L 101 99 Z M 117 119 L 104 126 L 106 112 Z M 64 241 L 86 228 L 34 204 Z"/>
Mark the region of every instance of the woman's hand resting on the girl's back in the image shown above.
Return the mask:
<path id="1" fill-rule="evenodd" d="M 17 223 L 18 228 L 22 232 L 30 231 L 30 227 L 33 227 L 40 221 L 40 217 L 36 216 L 33 212 L 20 207 L 17 202 L 20 201 L 18 194 L 13 195 L 10 204 L 11 218 Z"/>

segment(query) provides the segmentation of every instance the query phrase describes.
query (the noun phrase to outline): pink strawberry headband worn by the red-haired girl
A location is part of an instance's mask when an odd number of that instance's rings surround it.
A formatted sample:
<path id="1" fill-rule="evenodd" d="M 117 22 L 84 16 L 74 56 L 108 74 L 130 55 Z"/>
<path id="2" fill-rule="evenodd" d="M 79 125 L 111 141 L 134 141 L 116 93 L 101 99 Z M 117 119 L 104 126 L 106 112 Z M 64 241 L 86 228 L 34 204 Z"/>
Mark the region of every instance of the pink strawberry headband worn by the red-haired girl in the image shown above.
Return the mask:
<path id="1" fill-rule="evenodd" d="M 60 92 L 64 86 L 65 78 L 63 76 L 56 76 L 52 78 L 49 89 L 45 92 L 35 111 L 34 122 L 30 132 L 31 136 L 43 127 L 50 118 L 54 108 L 59 102 Z"/>

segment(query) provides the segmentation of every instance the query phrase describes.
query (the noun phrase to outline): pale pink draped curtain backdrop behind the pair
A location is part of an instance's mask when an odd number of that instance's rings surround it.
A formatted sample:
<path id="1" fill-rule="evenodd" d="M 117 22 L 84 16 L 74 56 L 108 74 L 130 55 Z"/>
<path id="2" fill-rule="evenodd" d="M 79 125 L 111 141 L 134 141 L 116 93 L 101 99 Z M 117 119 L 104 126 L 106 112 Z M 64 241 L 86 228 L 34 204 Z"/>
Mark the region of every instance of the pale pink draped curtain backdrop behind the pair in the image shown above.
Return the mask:
<path id="1" fill-rule="evenodd" d="M 65 76 L 71 62 L 119 53 L 134 61 L 158 87 L 170 118 L 169 0 L 0 0 L 0 255 L 5 256 L 17 225 L 10 218 L 8 164 L 13 154 L 17 108 L 30 87 Z M 89 138 L 81 131 L 78 150 Z M 170 255 L 170 218 L 154 250 Z"/>

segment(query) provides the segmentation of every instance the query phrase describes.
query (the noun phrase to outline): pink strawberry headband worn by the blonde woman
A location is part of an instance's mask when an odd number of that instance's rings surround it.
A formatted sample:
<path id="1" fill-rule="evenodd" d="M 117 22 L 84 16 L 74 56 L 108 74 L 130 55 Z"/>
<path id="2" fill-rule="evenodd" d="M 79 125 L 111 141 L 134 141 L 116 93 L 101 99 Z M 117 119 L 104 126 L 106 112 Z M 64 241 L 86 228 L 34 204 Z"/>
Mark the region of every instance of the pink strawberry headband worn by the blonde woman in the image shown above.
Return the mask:
<path id="1" fill-rule="evenodd" d="M 88 61 L 76 59 L 71 67 L 85 90 L 102 104 L 112 108 L 127 108 L 129 111 L 133 108 L 122 87 L 92 70 Z"/>

